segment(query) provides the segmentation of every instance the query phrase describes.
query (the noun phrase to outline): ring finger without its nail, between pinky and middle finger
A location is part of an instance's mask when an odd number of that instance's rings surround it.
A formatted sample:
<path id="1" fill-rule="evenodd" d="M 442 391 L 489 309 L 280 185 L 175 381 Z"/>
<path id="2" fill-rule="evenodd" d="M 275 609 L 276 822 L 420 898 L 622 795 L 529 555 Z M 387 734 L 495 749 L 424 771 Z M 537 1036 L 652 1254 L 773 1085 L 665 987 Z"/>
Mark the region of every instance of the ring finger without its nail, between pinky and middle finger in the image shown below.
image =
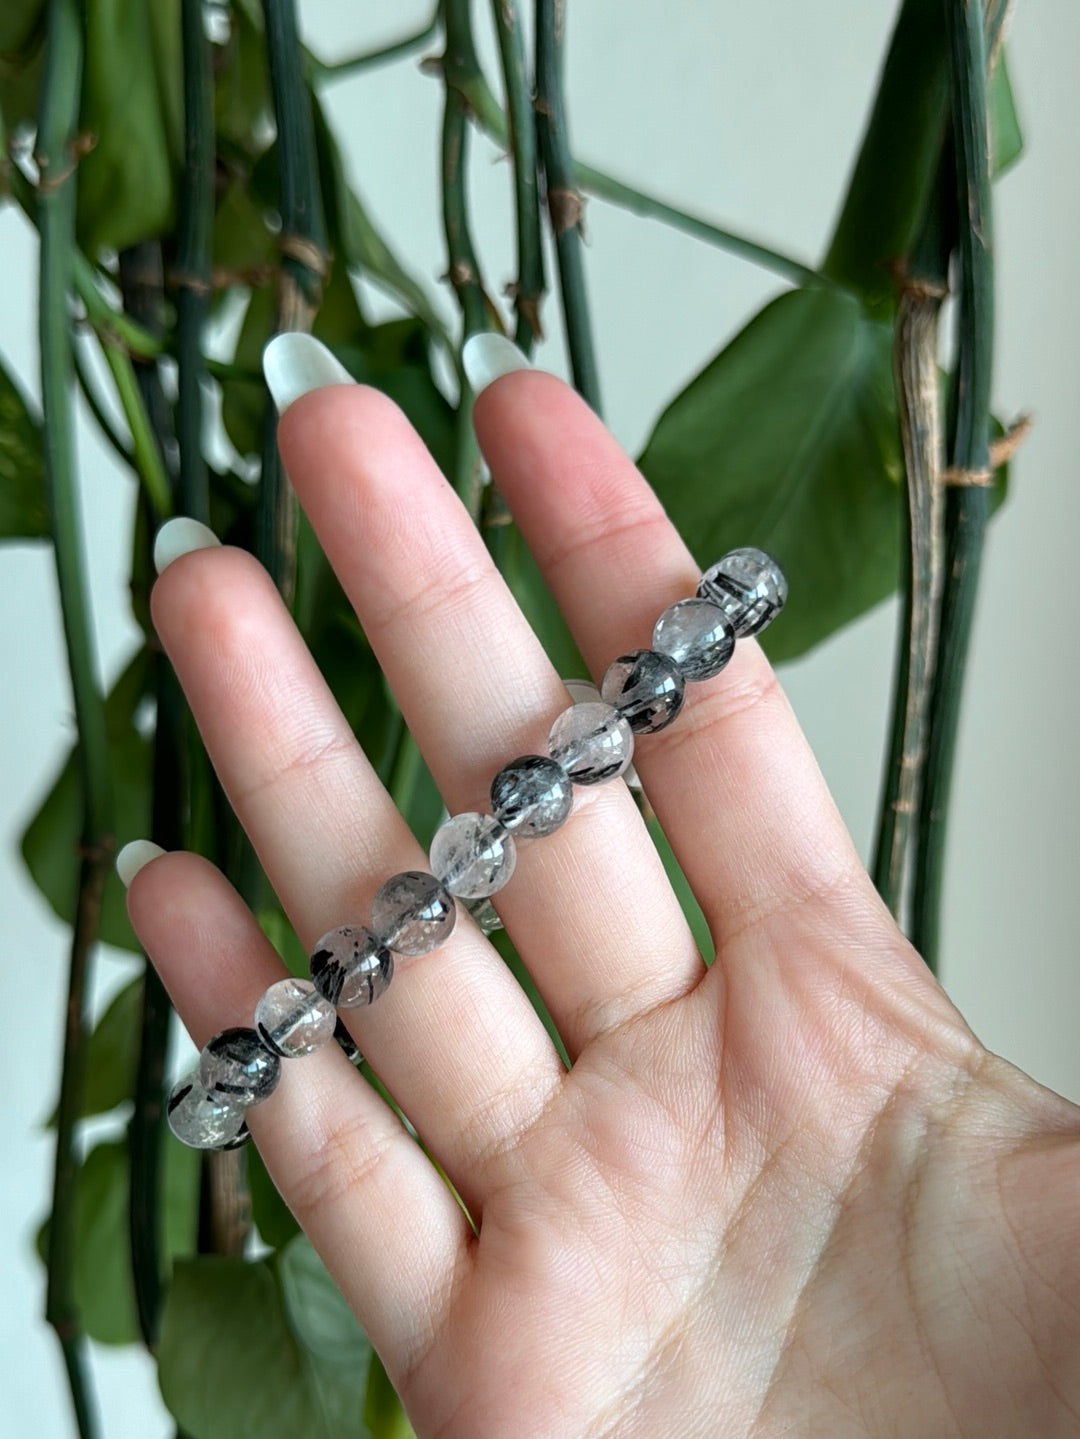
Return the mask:
<path id="1" fill-rule="evenodd" d="M 269 576 L 240 550 L 171 564 L 152 596 L 210 757 L 305 948 L 367 924 L 393 873 L 424 856 L 357 745 Z M 475 925 L 398 961 L 377 1004 L 347 1010 L 466 1203 L 561 1082 L 541 1022 Z M 220 1026 L 219 1026 L 220 1027 Z"/>

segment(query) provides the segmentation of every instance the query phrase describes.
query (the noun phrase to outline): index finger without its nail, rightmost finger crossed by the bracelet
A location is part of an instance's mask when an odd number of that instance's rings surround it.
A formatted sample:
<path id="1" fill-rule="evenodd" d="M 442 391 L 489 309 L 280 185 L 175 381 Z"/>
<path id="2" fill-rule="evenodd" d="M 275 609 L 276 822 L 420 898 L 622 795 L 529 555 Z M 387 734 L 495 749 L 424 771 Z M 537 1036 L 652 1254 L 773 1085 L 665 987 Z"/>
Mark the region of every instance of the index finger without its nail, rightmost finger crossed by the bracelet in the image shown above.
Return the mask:
<path id="1" fill-rule="evenodd" d="M 536 371 L 496 380 L 475 419 L 495 479 L 594 673 L 618 653 L 650 646 L 653 623 L 695 593 L 699 568 L 617 442 L 567 386 Z M 677 722 L 650 735 L 636 763 L 718 948 L 781 909 L 866 886 L 755 642 L 739 640 L 716 679 L 687 686 Z"/>

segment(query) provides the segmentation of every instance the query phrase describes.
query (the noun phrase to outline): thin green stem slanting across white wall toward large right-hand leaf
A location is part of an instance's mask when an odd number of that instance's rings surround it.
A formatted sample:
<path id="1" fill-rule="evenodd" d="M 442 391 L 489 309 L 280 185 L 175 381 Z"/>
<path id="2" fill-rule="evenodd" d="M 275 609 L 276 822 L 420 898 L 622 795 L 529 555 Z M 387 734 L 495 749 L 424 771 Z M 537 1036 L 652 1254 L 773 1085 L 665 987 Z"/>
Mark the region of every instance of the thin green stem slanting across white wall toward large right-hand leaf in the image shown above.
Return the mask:
<path id="1" fill-rule="evenodd" d="M 476 75 L 466 81 L 465 98 L 469 101 L 469 106 L 480 130 L 496 144 L 508 147 L 509 127 L 506 117 L 482 72 L 477 71 Z M 574 163 L 574 176 L 581 189 L 594 194 L 598 200 L 607 200 L 610 204 L 617 204 L 633 214 L 660 220 L 663 224 L 670 224 L 674 230 L 682 230 L 685 235 L 705 240 L 706 245 L 715 245 L 718 249 L 738 255 L 741 259 L 761 265 L 764 269 L 769 269 L 797 285 L 834 283 L 821 271 L 813 269 L 791 255 L 784 255 L 768 245 L 761 245 L 758 240 L 752 240 L 746 235 L 739 235 L 736 230 L 713 224 L 712 220 L 706 220 L 699 214 L 680 210 L 677 206 L 637 189 L 637 186 L 617 180 L 605 170 L 585 164 L 584 160 Z"/>

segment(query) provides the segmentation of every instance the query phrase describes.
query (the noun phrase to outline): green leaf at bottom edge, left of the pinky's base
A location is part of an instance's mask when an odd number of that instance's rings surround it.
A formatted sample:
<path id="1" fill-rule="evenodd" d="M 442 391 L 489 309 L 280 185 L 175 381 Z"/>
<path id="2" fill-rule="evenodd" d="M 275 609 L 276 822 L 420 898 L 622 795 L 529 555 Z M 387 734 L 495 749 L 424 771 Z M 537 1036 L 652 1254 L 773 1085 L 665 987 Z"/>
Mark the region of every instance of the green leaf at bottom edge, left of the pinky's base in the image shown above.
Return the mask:
<path id="1" fill-rule="evenodd" d="M 191 1439 L 370 1439 L 371 1348 L 301 1235 L 275 1261 L 177 1265 L 161 1393 Z"/>

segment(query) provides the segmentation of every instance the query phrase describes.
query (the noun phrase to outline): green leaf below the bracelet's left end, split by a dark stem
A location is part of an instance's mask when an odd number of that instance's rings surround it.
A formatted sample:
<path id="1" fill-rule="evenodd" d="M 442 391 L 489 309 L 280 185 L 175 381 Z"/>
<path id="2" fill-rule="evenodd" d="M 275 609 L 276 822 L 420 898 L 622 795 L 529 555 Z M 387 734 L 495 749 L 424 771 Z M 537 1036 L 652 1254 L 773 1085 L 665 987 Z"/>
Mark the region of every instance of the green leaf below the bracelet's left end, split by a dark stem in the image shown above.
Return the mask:
<path id="1" fill-rule="evenodd" d="M 164 1143 L 163 1219 L 165 1258 L 188 1255 L 198 1220 L 198 1153 Z M 79 1168 L 75 1210 L 75 1302 L 86 1333 L 99 1344 L 139 1340 L 131 1278 L 128 1227 L 128 1148 L 98 1144 Z M 47 1223 L 37 1239 L 45 1256 Z"/>

